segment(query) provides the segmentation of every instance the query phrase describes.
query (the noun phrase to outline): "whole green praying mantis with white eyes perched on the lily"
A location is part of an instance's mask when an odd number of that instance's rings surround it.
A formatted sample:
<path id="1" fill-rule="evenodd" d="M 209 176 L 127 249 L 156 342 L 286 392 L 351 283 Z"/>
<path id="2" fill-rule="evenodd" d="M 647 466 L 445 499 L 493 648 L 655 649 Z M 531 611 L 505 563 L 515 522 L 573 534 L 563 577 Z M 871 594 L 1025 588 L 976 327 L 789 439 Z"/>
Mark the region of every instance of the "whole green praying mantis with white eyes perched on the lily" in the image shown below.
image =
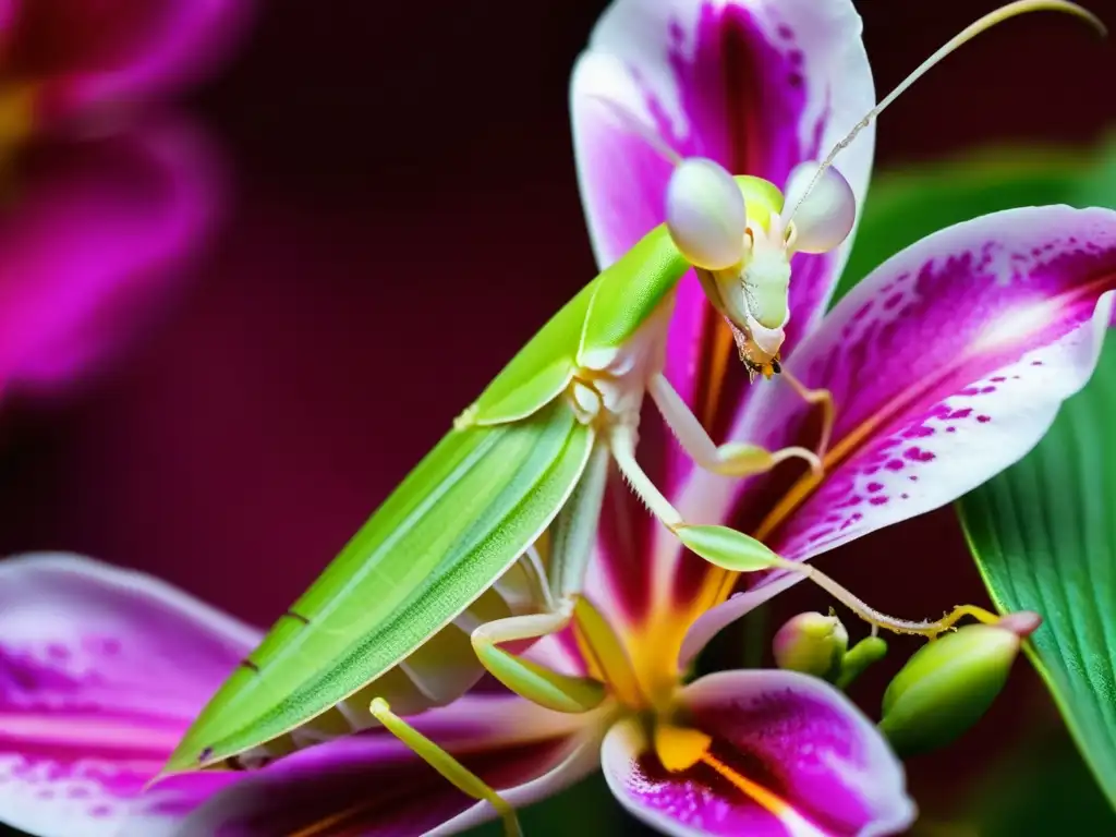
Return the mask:
<path id="1" fill-rule="evenodd" d="M 786 195 L 712 161 L 674 160 L 666 223 L 585 286 L 454 421 L 232 673 L 164 775 L 253 767 L 382 724 L 466 793 L 506 812 L 491 789 L 401 715 L 452 702 L 484 671 L 558 711 L 587 711 L 604 700 L 600 683 L 501 646 L 554 634 L 575 618 L 610 462 L 702 558 L 734 571 L 804 573 L 884 627 L 944 629 L 947 620 L 927 628 L 878 614 L 745 535 L 690 525 L 636 461 L 639 411 L 650 396 L 696 465 L 719 474 L 760 473 L 788 458 L 820 468 L 817 451 L 718 446 L 709 436 L 663 374 L 677 283 L 695 268 L 749 372 L 778 375 L 791 256 L 833 250 L 853 228 L 855 198 L 833 167 L 835 156 L 950 51 L 1039 9 L 1100 26 L 1064 0 L 1020 0 L 985 16 L 921 65 L 824 161 L 800 166 Z M 827 392 L 783 376 L 807 402 L 825 406 L 831 422 Z"/>

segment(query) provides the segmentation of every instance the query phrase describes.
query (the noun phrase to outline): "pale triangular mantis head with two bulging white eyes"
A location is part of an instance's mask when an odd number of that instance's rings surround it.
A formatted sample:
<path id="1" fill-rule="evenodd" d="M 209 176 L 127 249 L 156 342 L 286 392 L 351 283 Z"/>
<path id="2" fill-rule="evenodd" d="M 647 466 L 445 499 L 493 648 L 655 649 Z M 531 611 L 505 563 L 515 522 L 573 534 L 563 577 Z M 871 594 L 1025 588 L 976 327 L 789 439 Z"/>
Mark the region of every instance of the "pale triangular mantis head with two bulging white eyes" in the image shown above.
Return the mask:
<path id="1" fill-rule="evenodd" d="M 732 326 L 740 359 L 764 377 L 780 371 L 790 320 L 790 260 L 841 244 L 856 198 L 833 166 L 798 165 L 786 195 L 762 177 L 733 177 L 712 160 L 681 161 L 666 190 L 666 225 L 705 295 Z"/>

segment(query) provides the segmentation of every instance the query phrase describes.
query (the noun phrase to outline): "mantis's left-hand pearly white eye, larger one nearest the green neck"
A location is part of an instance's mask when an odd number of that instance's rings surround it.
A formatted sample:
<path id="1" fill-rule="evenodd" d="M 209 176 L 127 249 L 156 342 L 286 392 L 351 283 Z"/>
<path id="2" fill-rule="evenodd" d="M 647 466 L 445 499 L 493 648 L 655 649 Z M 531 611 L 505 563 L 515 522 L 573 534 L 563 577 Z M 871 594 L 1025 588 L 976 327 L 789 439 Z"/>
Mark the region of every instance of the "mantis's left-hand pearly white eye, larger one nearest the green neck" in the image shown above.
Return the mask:
<path id="1" fill-rule="evenodd" d="M 732 175 L 712 160 L 683 160 L 671 174 L 666 227 L 695 267 L 724 270 L 744 258 L 744 198 Z"/>

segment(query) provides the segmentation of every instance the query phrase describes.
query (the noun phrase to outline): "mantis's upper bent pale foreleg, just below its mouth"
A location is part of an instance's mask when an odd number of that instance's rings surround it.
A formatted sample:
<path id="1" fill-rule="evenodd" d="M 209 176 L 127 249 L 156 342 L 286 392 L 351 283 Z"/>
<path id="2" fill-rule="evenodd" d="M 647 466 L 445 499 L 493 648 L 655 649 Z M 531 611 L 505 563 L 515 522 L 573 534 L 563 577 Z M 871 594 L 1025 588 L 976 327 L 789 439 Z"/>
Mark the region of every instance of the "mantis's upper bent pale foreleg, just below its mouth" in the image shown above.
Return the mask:
<path id="1" fill-rule="evenodd" d="M 749 477 L 770 471 L 783 460 L 799 458 L 806 460 L 815 473 L 821 473 L 821 460 L 814 451 L 806 448 L 792 446 L 779 451 L 767 451 L 763 448 L 740 442 L 729 442 L 718 446 L 710 439 L 701 422 L 698 421 L 698 416 L 691 412 L 682 396 L 671 386 L 662 373 L 651 379 L 647 391 L 652 401 L 655 402 L 655 406 L 658 407 L 663 421 L 674 432 L 686 454 L 699 468 L 724 477 Z M 828 395 L 828 393 L 826 394 Z M 826 435 L 828 436 L 828 431 L 826 431 Z M 828 439 L 826 443 L 828 444 Z"/>

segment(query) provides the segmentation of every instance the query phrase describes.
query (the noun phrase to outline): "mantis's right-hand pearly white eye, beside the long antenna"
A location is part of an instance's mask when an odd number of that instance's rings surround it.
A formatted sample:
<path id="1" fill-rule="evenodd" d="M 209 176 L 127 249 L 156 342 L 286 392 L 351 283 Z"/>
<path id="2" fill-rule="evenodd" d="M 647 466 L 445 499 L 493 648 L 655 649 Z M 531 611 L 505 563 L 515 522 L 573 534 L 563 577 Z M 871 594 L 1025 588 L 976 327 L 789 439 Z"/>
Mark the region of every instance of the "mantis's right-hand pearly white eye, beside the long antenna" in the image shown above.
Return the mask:
<path id="1" fill-rule="evenodd" d="M 856 195 L 834 166 L 819 174 L 820 163 L 799 163 L 787 180 L 787 249 L 824 253 L 839 247 L 856 221 Z"/>

